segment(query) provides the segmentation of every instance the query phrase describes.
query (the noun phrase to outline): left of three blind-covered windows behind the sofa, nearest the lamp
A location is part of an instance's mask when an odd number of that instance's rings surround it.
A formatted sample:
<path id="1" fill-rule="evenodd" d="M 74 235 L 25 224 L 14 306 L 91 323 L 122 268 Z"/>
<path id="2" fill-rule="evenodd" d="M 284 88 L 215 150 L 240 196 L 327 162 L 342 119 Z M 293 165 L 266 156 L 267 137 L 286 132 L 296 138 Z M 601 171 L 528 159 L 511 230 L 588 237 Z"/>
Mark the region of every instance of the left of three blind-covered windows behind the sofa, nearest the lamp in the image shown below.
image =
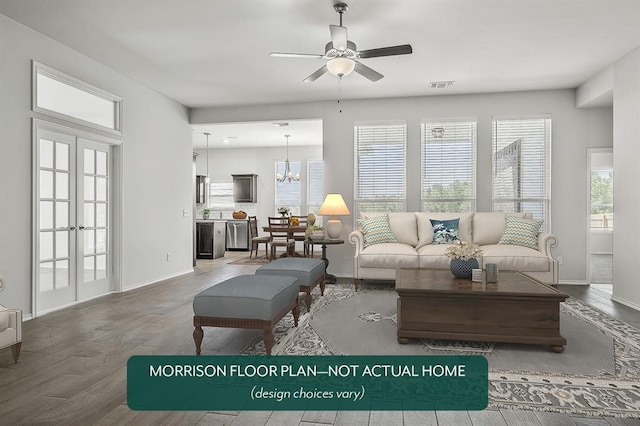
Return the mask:
<path id="1" fill-rule="evenodd" d="M 407 125 L 356 123 L 355 213 L 394 212 L 406 208 Z"/>

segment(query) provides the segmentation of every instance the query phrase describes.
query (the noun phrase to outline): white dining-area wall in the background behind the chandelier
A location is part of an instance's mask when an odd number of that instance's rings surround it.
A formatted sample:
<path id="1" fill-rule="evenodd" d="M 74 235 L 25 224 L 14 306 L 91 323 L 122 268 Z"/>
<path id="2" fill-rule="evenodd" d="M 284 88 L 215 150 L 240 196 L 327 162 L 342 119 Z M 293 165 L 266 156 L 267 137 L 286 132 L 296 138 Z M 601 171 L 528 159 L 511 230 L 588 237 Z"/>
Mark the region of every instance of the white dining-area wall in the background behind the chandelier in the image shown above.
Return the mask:
<path id="1" fill-rule="evenodd" d="M 238 208 L 248 212 L 255 211 L 258 225 L 266 225 L 267 217 L 276 214 L 274 163 L 286 160 L 285 145 L 283 144 L 282 148 L 210 149 L 209 151 L 209 175 L 212 182 L 232 182 L 232 174 L 258 175 L 257 203 L 239 204 Z M 195 152 L 200 154 L 196 160 L 197 173 L 206 175 L 206 149 Z M 289 147 L 289 161 L 302 162 L 301 196 L 304 204 L 307 196 L 306 164 L 309 160 L 322 160 L 321 146 Z M 213 213 L 213 217 L 216 218 L 215 209 Z M 306 210 L 303 213 L 306 213 Z"/>

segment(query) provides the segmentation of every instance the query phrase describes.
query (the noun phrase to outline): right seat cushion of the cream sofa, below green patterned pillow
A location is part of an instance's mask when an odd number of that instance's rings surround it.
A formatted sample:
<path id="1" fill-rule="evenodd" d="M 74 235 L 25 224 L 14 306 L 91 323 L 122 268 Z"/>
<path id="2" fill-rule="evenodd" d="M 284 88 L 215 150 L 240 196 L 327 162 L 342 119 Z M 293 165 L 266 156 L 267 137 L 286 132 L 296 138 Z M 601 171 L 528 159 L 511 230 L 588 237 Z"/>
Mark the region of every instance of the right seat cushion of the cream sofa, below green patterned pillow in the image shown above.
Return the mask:
<path id="1" fill-rule="evenodd" d="M 511 244 L 482 246 L 483 264 L 495 263 L 499 269 L 521 272 L 546 272 L 549 258 L 529 247 Z"/>

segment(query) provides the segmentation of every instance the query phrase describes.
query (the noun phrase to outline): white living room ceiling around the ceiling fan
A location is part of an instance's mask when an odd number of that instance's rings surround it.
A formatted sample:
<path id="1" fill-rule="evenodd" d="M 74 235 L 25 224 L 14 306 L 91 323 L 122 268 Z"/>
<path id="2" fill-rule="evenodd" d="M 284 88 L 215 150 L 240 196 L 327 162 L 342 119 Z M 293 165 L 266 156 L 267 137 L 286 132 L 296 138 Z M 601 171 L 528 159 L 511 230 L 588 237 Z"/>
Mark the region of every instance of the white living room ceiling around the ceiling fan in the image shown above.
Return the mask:
<path id="1" fill-rule="evenodd" d="M 322 59 L 331 0 L 0 0 L 0 13 L 189 107 L 335 100 L 338 79 L 303 79 Z M 640 45 L 639 0 L 347 0 L 363 59 L 342 99 L 575 88 Z M 449 89 L 430 81 L 455 80 Z"/>

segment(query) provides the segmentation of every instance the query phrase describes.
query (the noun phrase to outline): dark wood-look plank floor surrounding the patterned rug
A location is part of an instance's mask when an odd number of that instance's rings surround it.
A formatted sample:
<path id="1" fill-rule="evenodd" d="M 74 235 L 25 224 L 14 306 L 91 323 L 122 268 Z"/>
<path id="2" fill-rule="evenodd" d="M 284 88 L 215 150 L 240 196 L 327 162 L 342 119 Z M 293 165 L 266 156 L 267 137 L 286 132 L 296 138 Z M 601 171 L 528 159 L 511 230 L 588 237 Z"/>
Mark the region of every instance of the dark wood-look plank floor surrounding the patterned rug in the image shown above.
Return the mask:
<path id="1" fill-rule="evenodd" d="M 126 405 L 132 355 L 193 354 L 192 300 L 255 265 L 229 265 L 244 252 L 199 261 L 193 273 L 81 303 L 27 321 L 17 364 L 0 351 L 0 425 L 640 425 L 640 420 L 487 409 L 480 412 L 244 411 L 143 412 Z M 588 287 L 565 291 L 640 328 L 640 312 Z M 330 286 L 328 286 L 330 291 Z M 237 353 L 260 332 L 205 331 L 208 354 Z"/>

